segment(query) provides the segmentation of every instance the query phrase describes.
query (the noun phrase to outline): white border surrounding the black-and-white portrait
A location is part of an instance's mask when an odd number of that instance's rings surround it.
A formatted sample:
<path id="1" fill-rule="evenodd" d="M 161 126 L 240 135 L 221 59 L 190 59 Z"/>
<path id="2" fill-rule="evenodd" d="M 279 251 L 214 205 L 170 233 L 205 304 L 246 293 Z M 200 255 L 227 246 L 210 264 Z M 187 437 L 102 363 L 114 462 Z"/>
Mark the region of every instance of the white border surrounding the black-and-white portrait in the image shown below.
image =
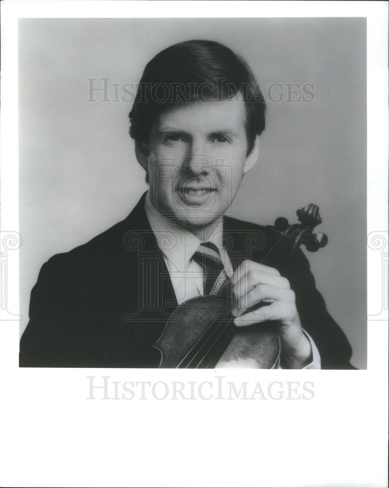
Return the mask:
<path id="1" fill-rule="evenodd" d="M 18 231 L 19 18 L 366 17 L 367 235 L 386 236 L 388 246 L 387 14 L 381 1 L 3 1 L 1 231 Z M 367 246 L 367 259 L 372 315 L 383 269 L 374 246 Z M 19 309 L 18 260 L 17 250 L 10 253 L 9 310 Z M 0 486 L 385 486 L 385 310 L 367 326 L 367 370 L 261 372 L 265 386 L 311 382 L 311 401 L 221 402 L 217 395 L 206 399 L 204 382 L 223 376 L 255 386 L 256 372 L 19 368 L 19 324 L 1 321 Z M 122 383 L 204 383 L 204 398 L 88 400 L 87 376 L 105 375 Z"/>

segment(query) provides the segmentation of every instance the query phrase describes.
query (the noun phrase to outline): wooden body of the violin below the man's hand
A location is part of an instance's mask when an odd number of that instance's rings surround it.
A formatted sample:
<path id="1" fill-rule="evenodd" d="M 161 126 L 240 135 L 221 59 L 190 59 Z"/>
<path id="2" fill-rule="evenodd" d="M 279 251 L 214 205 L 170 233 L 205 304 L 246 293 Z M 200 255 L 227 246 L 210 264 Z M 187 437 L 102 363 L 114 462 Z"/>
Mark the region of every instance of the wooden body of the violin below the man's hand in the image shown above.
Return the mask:
<path id="1" fill-rule="evenodd" d="M 274 324 L 236 327 L 234 317 L 218 302 L 200 296 L 175 309 L 153 345 L 161 352 L 159 367 L 277 368 L 281 341 Z"/>

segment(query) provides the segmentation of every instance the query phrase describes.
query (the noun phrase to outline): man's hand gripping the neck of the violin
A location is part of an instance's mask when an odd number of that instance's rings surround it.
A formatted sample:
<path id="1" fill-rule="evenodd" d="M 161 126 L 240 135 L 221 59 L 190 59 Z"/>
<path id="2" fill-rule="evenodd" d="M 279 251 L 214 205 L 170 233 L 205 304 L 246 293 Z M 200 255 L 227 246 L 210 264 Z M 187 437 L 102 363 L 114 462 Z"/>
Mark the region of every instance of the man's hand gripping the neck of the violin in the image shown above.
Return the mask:
<path id="1" fill-rule="evenodd" d="M 267 320 L 278 321 L 283 361 L 289 368 L 300 369 L 306 366 L 311 361 L 312 348 L 303 333 L 295 293 L 290 289 L 289 281 L 275 268 L 246 260 L 231 277 L 231 285 L 235 325 L 239 327 Z M 270 305 L 245 313 L 260 302 Z"/>

